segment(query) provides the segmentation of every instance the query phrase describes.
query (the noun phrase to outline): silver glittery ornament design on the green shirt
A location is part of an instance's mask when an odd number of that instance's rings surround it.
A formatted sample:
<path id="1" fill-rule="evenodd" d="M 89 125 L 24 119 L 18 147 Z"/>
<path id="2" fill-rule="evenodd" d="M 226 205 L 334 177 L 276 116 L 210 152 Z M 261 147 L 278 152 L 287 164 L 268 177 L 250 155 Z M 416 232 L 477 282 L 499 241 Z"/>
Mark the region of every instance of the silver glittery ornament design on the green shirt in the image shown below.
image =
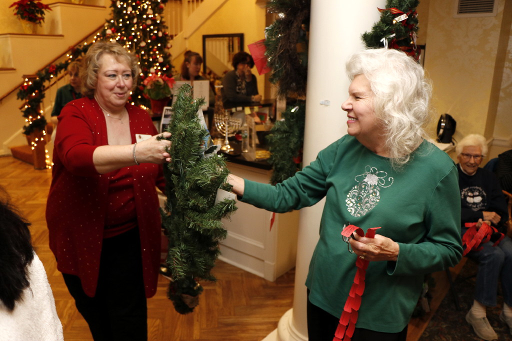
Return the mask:
<path id="1" fill-rule="evenodd" d="M 379 187 L 386 188 L 393 184 L 388 173 L 378 171 L 377 168 L 367 165 L 365 173 L 354 178 L 357 184 L 352 187 L 347 199 L 347 210 L 354 217 L 362 217 L 371 211 L 380 201 Z"/>

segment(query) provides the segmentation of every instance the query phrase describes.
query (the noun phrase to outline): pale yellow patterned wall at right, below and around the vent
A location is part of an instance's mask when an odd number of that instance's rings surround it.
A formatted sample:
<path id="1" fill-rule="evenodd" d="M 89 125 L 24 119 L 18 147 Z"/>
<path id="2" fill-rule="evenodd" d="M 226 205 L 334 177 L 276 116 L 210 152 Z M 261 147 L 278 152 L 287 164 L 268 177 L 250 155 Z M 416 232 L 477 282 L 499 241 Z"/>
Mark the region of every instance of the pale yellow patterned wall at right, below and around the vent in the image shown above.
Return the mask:
<path id="1" fill-rule="evenodd" d="M 449 113 L 457 121 L 457 140 L 472 133 L 490 139 L 495 124 L 501 124 L 500 134 L 504 134 L 501 138 L 508 138 L 512 132 L 512 120 L 505 121 L 501 114 L 512 110 L 509 99 L 505 101 L 506 94 L 512 90 L 505 84 L 504 89 L 501 87 L 503 96 L 498 96 L 496 91 L 493 93 L 493 87 L 496 89 L 502 78 L 510 78 L 497 62 L 503 57 L 509 40 L 500 35 L 506 31 L 502 30 L 502 24 L 510 25 L 508 18 L 503 22 L 505 0 L 497 3 L 496 16 L 454 18 L 455 1 L 430 0 L 425 69 L 434 85 L 433 135 L 442 113 Z M 499 91 L 500 86 L 497 89 Z M 496 101 L 500 101 L 498 116 L 493 110 Z M 496 122 L 495 118 L 498 118 Z"/>

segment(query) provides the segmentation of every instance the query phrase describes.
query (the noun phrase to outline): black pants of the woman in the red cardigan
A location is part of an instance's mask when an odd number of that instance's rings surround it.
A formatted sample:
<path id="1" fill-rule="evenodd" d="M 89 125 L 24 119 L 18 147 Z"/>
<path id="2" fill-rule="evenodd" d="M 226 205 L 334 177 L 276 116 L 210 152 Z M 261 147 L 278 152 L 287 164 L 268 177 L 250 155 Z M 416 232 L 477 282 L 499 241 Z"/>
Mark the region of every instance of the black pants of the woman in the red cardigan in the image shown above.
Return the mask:
<path id="1" fill-rule="evenodd" d="M 96 295 L 78 276 L 62 274 L 95 341 L 147 340 L 147 305 L 138 228 L 103 240 Z"/>

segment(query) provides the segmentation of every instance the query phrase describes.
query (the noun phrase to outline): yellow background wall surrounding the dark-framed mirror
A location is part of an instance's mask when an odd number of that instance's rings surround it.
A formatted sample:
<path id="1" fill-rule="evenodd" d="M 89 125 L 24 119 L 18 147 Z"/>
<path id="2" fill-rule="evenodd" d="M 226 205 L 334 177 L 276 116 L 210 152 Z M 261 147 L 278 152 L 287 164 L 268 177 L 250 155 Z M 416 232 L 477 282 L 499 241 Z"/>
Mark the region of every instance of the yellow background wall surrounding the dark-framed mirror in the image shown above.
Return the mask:
<path id="1" fill-rule="evenodd" d="M 247 45 L 265 38 L 265 8 L 254 1 L 227 1 L 209 20 L 187 39 L 188 50 L 203 54 L 204 34 L 244 34 L 244 51 L 249 52 Z M 180 70 L 183 55 L 173 56 L 173 65 Z M 264 94 L 265 79 L 254 67 L 252 73 L 258 79 L 258 91 Z"/>

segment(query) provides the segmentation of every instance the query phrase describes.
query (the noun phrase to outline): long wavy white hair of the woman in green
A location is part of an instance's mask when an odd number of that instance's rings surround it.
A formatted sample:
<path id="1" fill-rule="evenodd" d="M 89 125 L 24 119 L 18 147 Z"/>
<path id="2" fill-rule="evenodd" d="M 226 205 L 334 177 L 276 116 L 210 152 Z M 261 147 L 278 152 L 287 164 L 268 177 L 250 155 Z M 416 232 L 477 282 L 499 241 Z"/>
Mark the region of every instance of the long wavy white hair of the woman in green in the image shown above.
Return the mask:
<path id="1" fill-rule="evenodd" d="M 386 150 L 399 169 L 426 137 L 431 120 L 432 86 L 423 68 L 405 53 L 394 49 L 367 49 L 347 61 L 352 81 L 365 75 L 373 92 L 375 117 L 385 129 Z"/>

